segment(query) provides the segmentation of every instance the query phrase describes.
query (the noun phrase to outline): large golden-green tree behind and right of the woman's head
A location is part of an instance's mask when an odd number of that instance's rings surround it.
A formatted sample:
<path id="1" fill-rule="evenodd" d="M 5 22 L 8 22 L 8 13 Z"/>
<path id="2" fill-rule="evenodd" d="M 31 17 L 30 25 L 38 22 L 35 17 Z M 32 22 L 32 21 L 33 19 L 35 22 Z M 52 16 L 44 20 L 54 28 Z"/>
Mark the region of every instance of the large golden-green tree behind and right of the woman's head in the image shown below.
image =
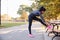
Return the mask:
<path id="1" fill-rule="evenodd" d="M 60 0 L 34 0 L 37 3 L 37 9 L 41 6 L 44 6 L 47 11 L 44 16 L 47 19 L 57 19 L 57 16 L 60 14 Z M 32 4 L 33 5 L 33 4 Z M 35 6 L 34 6 L 35 7 Z"/>

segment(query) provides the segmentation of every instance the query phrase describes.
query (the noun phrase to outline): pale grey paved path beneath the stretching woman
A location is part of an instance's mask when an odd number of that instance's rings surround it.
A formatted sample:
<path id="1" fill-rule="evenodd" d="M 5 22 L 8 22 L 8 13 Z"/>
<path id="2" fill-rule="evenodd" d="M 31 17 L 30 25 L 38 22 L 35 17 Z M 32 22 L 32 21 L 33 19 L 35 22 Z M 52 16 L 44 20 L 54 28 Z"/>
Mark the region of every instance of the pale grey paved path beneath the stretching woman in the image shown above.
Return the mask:
<path id="1" fill-rule="evenodd" d="M 0 29 L 0 40 L 51 40 L 52 38 L 47 36 L 47 33 L 40 28 L 41 26 L 39 23 L 32 25 L 34 38 L 28 36 L 28 24 Z M 60 40 L 60 38 L 54 40 Z"/>

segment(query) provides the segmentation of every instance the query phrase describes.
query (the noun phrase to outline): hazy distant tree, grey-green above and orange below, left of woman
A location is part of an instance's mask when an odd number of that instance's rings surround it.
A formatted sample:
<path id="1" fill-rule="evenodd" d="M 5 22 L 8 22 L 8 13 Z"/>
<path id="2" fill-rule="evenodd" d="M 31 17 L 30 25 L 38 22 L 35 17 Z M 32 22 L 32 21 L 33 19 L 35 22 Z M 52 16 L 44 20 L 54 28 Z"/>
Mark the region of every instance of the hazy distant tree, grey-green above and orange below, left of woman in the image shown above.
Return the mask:
<path id="1" fill-rule="evenodd" d="M 21 15 L 21 19 L 24 19 L 25 21 L 28 18 L 28 15 L 26 12 L 31 12 L 32 8 L 26 5 L 20 5 L 17 14 Z"/>

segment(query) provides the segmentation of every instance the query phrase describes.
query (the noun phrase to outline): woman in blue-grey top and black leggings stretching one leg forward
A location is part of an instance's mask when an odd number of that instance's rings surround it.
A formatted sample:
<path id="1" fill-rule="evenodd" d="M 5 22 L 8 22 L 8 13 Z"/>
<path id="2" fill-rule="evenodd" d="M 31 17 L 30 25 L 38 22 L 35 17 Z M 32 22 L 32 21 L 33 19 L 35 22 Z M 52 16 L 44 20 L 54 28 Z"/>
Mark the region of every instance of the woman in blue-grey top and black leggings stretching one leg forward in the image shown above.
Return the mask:
<path id="1" fill-rule="evenodd" d="M 44 17 L 42 16 L 42 14 L 44 14 L 45 11 L 46 11 L 46 9 L 44 7 L 41 7 L 39 10 L 32 11 L 31 14 L 29 15 L 29 17 L 28 17 L 28 20 L 29 20 L 28 30 L 29 30 L 30 37 L 33 37 L 32 33 L 31 33 L 31 26 L 32 26 L 33 20 L 41 22 L 46 27 L 48 26 L 45 23 Z M 36 16 L 40 16 L 40 18 L 37 18 Z"/>

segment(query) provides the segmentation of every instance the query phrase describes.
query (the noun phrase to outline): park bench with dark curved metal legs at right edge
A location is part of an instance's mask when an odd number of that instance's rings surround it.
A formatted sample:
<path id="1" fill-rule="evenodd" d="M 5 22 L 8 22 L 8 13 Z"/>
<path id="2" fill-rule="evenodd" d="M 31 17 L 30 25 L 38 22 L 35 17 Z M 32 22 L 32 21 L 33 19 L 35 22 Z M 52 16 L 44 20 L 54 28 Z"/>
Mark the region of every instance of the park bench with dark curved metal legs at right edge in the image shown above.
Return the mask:
<path id="1" fill-rule="evenodd" d="M 48 36 L 50 33 L 53 33 L 54 34 L 54 36 L 52 38 L 52 40 L 53 40 L 55 37 L 60 37 L 60 30 L 58 30 L 59 25 L 60 25 L 60 21 L 54 21 L 54 22 L 50 22 L 50 23 L 51 23 L 51 25 L 53 25 L 53 28 L 52 28 L 52 31 L 50 31 L 48 33 Z M 54 30 L 54 27 L 57 27 L 57 30 Z"/>

